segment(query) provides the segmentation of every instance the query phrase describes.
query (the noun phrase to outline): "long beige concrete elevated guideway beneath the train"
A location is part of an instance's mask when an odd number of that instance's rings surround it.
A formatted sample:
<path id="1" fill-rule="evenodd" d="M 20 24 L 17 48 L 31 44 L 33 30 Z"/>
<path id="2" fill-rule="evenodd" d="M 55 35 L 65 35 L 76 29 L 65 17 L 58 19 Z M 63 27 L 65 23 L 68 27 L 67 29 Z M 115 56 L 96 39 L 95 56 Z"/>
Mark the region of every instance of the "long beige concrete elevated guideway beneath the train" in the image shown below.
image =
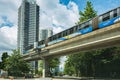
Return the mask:
<path id="1" fill-rule="evenodd" d="M 29 54 L 23 55 L 23 59 L 34 61 L 118 45 L 120 45 L 120 22 L 47 46 L 41 51 L 31 51 Z"/>

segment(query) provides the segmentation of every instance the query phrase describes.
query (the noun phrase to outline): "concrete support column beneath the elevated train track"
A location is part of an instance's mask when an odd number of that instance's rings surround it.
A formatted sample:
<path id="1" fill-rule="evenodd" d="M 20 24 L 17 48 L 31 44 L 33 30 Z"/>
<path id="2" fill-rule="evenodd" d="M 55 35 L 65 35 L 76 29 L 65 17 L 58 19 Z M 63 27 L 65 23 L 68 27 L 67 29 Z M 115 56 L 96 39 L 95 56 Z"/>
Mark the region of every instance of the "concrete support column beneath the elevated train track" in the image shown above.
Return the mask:
<path id="1" fill-rule="evenodd" d="M 48 59 L 43 59 L 43 78 L 49 77 L 50 72 L 49 72 L 49 67 L 48 67 Z"/>

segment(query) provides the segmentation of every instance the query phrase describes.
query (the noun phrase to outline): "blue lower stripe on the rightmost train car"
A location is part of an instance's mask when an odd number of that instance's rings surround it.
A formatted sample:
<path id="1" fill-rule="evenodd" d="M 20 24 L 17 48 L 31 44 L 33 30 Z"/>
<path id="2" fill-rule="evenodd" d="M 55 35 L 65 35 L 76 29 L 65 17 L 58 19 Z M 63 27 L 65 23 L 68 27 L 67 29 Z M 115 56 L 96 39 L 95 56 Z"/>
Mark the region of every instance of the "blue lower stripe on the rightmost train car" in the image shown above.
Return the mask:
<path id="1" fill-rule="evenodd" d="M 106 26 L 110 26 L 110 25 L 114 24 L 116 22 L 116 20 L 120 20 L 120 16 L 113 18 L 111 20 L 105 21 L 105 22 L 101 22 L 100 24 L 98 24 L 98 27 L 104 28 Z"/>

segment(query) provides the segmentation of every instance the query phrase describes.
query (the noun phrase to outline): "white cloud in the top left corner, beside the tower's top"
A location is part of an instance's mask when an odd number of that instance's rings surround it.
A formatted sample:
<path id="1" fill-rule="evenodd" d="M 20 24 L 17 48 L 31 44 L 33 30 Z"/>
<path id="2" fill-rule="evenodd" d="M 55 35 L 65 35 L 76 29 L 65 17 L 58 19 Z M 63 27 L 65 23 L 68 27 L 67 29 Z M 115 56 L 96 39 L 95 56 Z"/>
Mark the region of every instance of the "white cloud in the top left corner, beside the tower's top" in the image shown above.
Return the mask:
<path id="1" fill-rule="evenodd" d="M 0 16 L 7 16 L 8 20 L 17 25 L 20 3 L 21 0 L 0 0 Z"/>

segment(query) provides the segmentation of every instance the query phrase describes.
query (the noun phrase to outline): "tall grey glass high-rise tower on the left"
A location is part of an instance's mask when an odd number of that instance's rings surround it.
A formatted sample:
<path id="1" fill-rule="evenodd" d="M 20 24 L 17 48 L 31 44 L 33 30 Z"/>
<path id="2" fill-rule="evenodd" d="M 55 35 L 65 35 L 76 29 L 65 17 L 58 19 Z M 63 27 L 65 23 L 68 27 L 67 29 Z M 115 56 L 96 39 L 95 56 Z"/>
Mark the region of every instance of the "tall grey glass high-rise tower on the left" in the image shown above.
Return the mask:
<path id="1" fill-rule="evenodd" d="M 25 53 L 39 40 L 39 6 L 36 0 L 22 0 L 18 10 L 18 49 Z"/>

